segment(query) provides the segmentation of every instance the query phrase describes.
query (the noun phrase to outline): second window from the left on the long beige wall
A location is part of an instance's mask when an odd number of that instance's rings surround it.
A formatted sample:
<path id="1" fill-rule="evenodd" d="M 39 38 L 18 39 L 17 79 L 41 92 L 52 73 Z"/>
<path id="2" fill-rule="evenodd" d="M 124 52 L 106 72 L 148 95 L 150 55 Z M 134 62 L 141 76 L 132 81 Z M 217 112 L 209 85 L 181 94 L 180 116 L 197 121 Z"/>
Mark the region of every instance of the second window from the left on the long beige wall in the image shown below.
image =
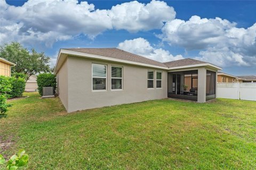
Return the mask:
<path id="1" fill-rule="evenodd" d="M 111 66 L 111 89 L 123 89 L 123 67 Z"/>

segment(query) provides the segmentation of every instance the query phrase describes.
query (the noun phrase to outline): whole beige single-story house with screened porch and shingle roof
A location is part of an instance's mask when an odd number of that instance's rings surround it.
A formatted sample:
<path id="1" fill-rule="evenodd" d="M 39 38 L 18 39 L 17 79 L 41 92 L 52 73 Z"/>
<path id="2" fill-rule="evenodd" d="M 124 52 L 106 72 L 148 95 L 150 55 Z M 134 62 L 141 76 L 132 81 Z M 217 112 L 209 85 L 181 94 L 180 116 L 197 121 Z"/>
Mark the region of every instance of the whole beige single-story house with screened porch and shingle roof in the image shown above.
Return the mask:
<path id="1" fill-rule="evenodd" d="M 204 103 L 217 92 L 220 67 L 190 58 L 161 63 L 117 48 L 60 49 L 54 73 L 68 112 L 167 97 Z M 183 89 L 196 74 L 195 89 Z M 194 87 L 194 86 L 193 86 Z"/>

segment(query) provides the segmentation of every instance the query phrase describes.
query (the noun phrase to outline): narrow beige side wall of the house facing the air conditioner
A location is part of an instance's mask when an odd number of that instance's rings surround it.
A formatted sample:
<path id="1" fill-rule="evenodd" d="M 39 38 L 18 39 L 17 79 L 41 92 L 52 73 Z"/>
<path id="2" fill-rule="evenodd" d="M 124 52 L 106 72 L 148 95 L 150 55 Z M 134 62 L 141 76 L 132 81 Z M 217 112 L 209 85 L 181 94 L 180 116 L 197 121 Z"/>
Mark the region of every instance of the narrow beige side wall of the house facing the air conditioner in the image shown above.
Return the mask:
<path id="1" fill-rule="evenodd" d="M 66 60 L 57 73 L 57 90 L 62 104 L 68 111 L 68 61 Z"/>

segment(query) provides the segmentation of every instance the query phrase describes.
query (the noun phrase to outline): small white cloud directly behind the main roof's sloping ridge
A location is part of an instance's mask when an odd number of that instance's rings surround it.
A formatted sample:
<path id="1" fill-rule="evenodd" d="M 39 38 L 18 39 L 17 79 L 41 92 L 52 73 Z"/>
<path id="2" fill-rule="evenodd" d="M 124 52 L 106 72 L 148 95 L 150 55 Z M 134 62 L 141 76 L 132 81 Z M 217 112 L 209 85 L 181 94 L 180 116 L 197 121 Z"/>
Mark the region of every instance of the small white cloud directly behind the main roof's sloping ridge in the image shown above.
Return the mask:
<path id="1" fill-rule="evenodd" d="M 158 62 L 169 62 L 183 59 L 182 55 L 173 56 L 168 50 L 164 50 L 162 48 L 154 48 L 150 45 L 148 40 L 144 38 L 125 40 L 122 43 L 119 43 L 117 48 L 150 58 L 151 60 Z"/>

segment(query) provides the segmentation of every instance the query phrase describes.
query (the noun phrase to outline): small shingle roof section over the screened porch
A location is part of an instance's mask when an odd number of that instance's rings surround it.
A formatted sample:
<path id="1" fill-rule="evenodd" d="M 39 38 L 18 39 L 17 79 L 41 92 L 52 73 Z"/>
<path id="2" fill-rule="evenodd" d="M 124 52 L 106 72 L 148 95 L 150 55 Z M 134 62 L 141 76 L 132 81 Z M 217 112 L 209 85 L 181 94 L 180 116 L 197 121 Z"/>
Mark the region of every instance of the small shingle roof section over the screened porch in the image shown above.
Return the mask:
<path id="1" fill-rule="evenodd" d="M 182 60 L 172 61 L 172 62 L 166 62 L 164 63 L 167 67 L 178 67 L 178 66 L 186 66 L 186 65 L 195 65 L 195 64 L 205 64 L 206 62 L 191 59 L 191 58 L 185 58 Z"/>

